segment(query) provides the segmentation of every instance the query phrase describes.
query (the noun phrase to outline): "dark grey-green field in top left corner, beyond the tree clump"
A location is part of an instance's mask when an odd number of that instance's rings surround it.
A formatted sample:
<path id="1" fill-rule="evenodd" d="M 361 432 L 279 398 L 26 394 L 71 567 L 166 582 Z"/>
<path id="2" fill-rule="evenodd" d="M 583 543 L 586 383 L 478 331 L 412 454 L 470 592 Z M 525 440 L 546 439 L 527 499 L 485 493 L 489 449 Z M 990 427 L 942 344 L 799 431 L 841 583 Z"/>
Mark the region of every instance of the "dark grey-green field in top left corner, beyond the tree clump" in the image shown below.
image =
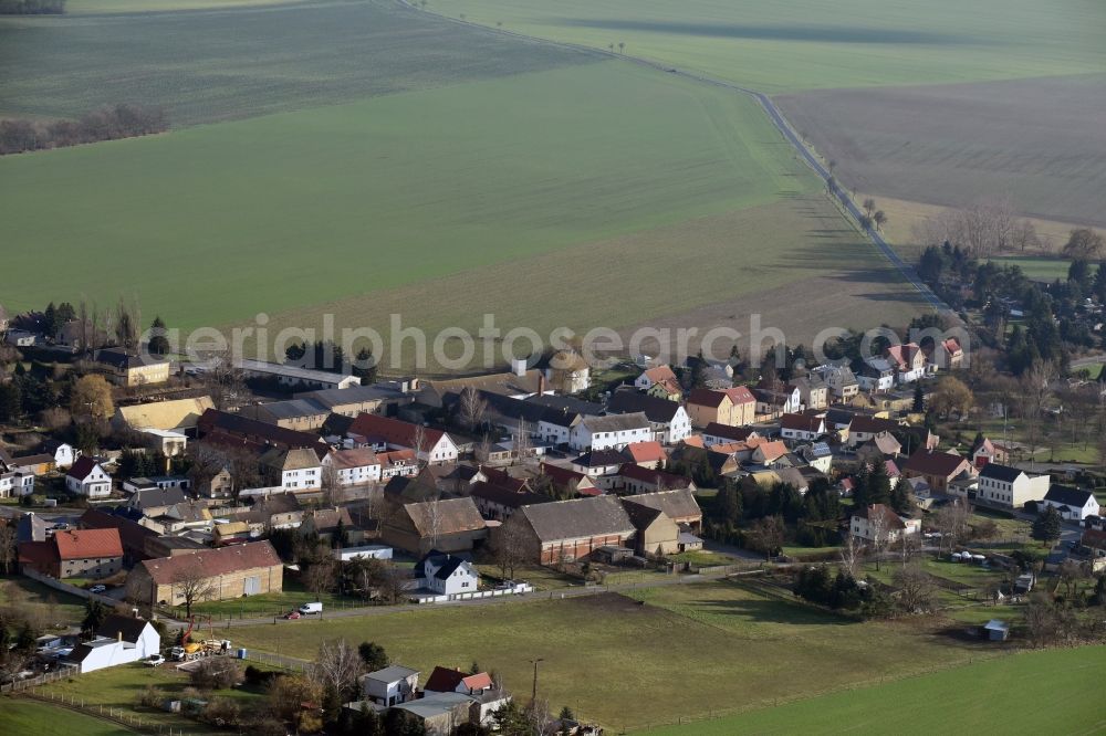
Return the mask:
<path id="1" fill-rule="evenodd" d="M 159 1 L 133 4 L 145 10 Z M 0 18 L 0 117 L 76 117 L 104 105 L 137 103 L 164 108 L 176 128 L 595 59 L 461 28 L 395 0 L 6 17 Z"/>

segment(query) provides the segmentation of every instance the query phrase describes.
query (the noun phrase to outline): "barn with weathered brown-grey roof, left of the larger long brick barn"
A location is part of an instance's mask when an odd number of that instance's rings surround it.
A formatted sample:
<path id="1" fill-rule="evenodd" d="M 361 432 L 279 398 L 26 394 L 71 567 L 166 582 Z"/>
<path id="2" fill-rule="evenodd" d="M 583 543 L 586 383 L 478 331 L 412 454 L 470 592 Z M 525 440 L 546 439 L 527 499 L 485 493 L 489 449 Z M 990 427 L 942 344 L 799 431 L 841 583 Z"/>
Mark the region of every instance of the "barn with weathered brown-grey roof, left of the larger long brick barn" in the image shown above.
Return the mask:
<path id="1" fill-rule="evenodd" d="M 426 555 L 431 549 L 471 551 L 488 535 L 480 509 L 467 496 L 394 506 L 382 521 L 380 538 L 387 545 L 415 555 Z"/>

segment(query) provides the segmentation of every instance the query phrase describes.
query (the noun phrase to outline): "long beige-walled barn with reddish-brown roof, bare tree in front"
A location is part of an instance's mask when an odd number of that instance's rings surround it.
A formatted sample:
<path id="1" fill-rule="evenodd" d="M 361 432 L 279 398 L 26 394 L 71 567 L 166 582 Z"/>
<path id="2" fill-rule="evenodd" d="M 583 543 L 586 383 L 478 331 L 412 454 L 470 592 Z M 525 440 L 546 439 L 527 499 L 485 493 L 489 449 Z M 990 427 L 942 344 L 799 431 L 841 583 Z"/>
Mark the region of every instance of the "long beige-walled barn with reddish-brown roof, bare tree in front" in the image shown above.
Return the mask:
<path id="1" fill-rule="evenodd" d="M 284 565 L 268 542 L 207 549 L 138 562 L 127 577 L 127 590 L 146 604 L 180 606 L 186 586 L 202 591 L 200 600 L 279 593 Z"/>

